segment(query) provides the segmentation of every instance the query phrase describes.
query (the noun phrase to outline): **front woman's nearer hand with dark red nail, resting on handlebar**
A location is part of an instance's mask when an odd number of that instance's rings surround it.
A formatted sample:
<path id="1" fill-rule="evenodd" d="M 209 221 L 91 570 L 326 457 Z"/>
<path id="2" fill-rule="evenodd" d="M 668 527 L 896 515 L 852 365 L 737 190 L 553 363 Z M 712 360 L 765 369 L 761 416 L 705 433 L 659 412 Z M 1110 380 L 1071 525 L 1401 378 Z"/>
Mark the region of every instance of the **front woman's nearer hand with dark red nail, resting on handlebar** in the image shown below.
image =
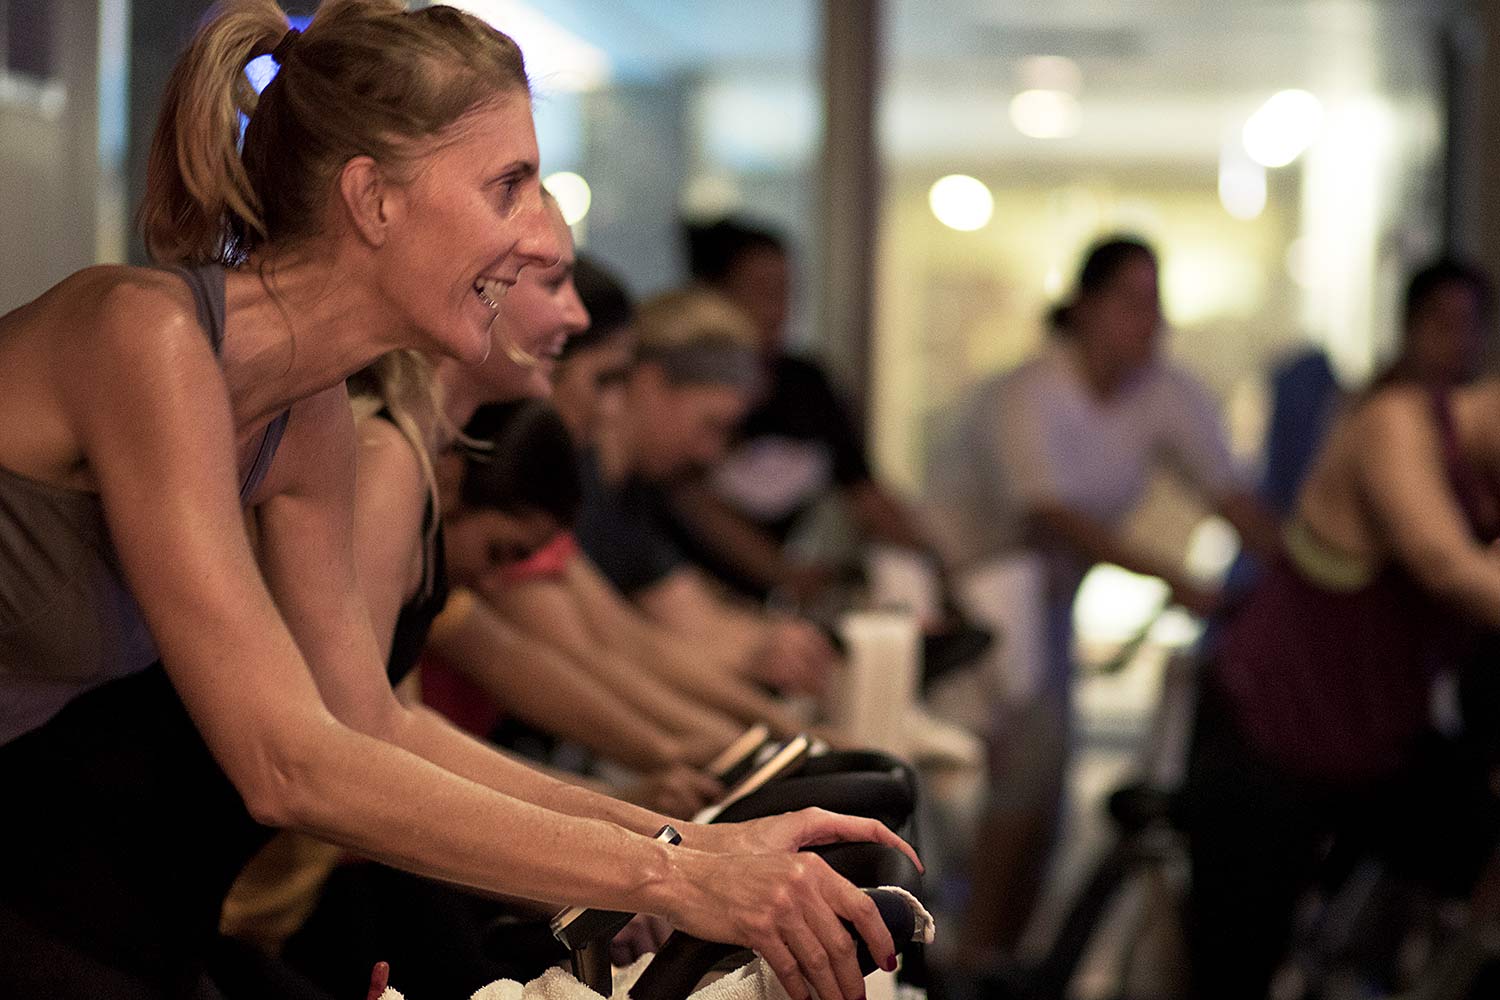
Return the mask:
<path id="1" fill-rule="evenodd" d="M 840 921 L 854 924 L 882 969 L 896 969 L 879 909 L 818 855 L 684 852 L 681 870 L 682 885 L 669 901 L 672 925 L 753 948 L 792 1000 L 862 1000 L 855 943 Z"/>

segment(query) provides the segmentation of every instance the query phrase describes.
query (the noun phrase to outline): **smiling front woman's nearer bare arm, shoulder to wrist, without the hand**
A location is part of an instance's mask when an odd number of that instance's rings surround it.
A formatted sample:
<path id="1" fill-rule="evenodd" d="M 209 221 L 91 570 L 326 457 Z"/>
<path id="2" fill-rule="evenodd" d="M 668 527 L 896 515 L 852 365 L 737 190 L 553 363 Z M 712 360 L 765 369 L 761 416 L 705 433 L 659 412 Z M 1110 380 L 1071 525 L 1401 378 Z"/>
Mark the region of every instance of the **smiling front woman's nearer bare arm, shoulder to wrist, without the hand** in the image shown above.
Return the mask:
<path id="1" fill-rule="evenodd" d="M 202 331 L 159 291 L 123 286 L 105 295 L 96 325 L 70 336 L 78 343 L 58 337 L 54 354 L 58 394 L 124 574 L 172 685 L 256 819 L 536 898 L 622 903 L 642 888 L 642 873 L 668 877 L 668 859 L 645 838 L 498 796 L 342 724 L 256 571 L 234 490 L 228 396 Z M 333 438 L 352 447 L 350 433 Z M 351 471 L 351 454 L 333 468 Z M 314 562 L 309 573 L 324 568 Z M 328 582 L 309 586 L 334 589 Z M 342 610 L 364 631 L 363 642 L 357 627 L 342 637 L 378 675 L 368 621 Z M 537 834 L 567 847 L 549 855 L 520 846 Z M 610 853 L 639 868 L 612 870 Z"/>

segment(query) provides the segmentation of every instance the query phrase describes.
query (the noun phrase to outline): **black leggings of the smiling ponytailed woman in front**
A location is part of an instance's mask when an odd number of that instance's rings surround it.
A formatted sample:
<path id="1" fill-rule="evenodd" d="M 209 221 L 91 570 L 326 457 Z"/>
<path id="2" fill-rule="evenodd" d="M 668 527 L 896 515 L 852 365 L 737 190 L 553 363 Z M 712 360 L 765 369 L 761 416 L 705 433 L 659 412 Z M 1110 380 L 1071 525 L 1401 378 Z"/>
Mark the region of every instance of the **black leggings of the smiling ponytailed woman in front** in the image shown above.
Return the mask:
<path id="1" fill-rule="evenodd" d="M 0 994 L 214 996 L 219 910 L 270 831 L 160 664 L 0 747 Z"/>

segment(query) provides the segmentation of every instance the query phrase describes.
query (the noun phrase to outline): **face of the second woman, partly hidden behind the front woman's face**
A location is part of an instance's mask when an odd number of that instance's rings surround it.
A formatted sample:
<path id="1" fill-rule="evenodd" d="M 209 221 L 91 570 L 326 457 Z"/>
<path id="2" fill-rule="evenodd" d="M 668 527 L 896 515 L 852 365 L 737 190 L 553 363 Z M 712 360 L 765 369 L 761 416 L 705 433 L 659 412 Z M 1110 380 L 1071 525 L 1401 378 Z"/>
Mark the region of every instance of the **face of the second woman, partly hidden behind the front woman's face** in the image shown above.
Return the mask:
<path id="1" fill-rule="evenodd" d="M 588 312 L 573 286 L 573 234 L 550 199 L 548 225 L 561 255 L 520 271 L 501 300 L 494 348 L 471 372 L 482 402 L 550 396 L 558 352 L 570 336 L 588 328 Z"/>

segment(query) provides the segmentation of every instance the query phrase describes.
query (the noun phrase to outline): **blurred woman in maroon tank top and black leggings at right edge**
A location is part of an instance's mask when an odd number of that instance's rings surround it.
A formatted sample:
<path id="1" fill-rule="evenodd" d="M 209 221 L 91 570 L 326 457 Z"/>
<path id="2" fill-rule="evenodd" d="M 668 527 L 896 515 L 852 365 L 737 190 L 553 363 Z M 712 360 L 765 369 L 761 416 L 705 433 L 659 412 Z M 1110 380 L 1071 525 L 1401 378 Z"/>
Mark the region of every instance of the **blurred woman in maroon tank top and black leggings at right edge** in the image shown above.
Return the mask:
<path id="1" fill-rule="evenodd" d="M 1470 868 L 1492 844 L 1454 819 L 1464 775 L 1432 766 L 1430 705 L 1472 627 L 1500 627 L 1500 382 L 1444 382 L 1386 379 L 1346 408 L 1209 661 L 1184 810 L 1204 1000 L 1266 996 L 1330 837 Z"/>

